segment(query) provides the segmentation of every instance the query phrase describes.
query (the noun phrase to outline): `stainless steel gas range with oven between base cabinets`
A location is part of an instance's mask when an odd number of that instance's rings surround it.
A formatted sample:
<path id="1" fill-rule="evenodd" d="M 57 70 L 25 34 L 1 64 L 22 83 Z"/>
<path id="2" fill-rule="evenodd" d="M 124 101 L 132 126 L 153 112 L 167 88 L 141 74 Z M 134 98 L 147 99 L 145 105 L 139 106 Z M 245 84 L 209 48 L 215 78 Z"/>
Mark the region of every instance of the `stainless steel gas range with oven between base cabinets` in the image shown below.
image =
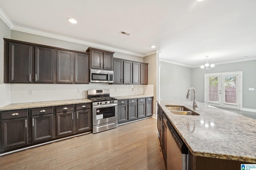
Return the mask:
<path id="1" fill-rule="evenodd" d="M 117 127 L 117 99 L 110 97 L 109 89 L 88 90 L 87 97 L 92 100 L 92 133 Z"/>

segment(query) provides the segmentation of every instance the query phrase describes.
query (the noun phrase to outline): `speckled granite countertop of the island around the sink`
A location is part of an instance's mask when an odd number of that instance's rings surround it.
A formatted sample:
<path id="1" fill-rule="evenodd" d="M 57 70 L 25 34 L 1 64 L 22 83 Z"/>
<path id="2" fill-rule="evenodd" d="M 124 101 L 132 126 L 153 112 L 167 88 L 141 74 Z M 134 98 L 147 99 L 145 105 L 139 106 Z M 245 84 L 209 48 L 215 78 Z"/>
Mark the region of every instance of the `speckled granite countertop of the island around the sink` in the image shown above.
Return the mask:
<path id="1" fill-rule="evenodd" d="M 175 115 L 166 105 L 192 109 L 192 101 L 157 101 L 195 156 L 256 163 L 256 120 L 196 102 L 200 115 Z"/>

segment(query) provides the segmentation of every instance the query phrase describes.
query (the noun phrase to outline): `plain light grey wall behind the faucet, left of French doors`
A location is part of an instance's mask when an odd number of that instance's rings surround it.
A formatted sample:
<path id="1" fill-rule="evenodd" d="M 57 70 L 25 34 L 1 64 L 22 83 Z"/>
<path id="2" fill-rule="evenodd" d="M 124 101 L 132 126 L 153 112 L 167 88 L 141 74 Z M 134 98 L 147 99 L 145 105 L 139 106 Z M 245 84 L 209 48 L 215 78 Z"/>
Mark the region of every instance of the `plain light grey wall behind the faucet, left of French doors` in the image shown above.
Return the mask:
<path id="1" fill-rule="evenodd" d="M 187 100 L 186 94 L 191 86 L 191 68 L 176 64 L 159 62 L 160 98 L 162 100 Z M 197 89 L 196 89 L 197 90 Z M 190 95 L 193 98 L 193 94 Z"/>

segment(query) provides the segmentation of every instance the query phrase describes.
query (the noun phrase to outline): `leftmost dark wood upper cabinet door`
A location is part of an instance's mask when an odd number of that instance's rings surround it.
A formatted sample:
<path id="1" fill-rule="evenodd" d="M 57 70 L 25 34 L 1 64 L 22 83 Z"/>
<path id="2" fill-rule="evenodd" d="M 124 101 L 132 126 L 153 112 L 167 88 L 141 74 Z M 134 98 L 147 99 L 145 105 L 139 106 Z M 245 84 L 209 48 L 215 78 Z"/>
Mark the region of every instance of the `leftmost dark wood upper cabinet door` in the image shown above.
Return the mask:
<path id="1" fill-rule="evenodd" d="M 32 83 L 32 45 L 10 43 L 9 82 Z"/>

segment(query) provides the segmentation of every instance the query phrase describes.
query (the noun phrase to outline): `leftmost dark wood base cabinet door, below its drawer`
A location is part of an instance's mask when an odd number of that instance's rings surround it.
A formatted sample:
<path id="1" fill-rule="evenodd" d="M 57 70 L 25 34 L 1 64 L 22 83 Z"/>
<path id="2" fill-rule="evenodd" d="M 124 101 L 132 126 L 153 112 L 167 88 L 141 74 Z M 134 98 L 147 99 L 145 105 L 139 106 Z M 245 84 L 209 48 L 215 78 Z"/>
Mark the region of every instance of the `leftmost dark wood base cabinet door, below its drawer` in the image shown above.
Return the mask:
<path id="1" fill-rule="evenodd" d="M 2 120 L 2 150 L 28 145 L 28 117 Z"/>

